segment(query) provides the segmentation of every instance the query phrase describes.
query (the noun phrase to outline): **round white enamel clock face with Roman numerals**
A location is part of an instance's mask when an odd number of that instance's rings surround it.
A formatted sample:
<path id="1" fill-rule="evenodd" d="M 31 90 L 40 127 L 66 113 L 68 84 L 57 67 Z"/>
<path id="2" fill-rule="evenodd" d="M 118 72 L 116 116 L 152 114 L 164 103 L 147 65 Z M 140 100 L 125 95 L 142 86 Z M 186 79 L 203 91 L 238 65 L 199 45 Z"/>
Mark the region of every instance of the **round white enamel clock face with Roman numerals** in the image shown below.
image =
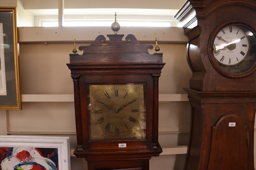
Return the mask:
<path id="1" fill-rule="evenodd" d="M 223 28 L 215 37 L 214 57 L 221 65 L 232 66 L 246 57 L 249 42 L 246 34 L 238 27 L 231 25 Z"/>

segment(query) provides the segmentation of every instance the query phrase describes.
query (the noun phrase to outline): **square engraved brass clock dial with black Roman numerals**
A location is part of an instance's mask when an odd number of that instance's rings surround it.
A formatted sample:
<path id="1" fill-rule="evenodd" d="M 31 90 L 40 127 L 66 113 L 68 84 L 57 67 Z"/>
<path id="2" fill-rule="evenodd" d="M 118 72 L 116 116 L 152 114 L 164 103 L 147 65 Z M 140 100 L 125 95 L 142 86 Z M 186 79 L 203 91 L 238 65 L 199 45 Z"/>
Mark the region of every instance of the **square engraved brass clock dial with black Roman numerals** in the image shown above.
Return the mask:
<path id="1" fill-rule="evenodd" d="M 91 138 L 145 138 L 143 84 L 89 85 Z"/>

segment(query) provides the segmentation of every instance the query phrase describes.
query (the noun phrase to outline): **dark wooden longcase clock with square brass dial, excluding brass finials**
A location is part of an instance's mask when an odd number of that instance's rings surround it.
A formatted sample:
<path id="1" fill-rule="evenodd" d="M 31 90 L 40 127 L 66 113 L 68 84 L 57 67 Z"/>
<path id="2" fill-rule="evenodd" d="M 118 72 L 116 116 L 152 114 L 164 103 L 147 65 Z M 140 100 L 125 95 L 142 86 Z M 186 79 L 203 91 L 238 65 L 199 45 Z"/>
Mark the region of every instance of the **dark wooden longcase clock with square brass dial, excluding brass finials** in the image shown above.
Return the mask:
<path id="1" fill-rule="evenodd" d="M 88 169 L 149 168 L 159 156 L 158 79 L 162 53 L 134 35 L 99 35 L 83 54 L 70 54 L 74 82 L 77 147 L 74 154 Z M 131 40 L 128 43 L 128 40 Z"/>

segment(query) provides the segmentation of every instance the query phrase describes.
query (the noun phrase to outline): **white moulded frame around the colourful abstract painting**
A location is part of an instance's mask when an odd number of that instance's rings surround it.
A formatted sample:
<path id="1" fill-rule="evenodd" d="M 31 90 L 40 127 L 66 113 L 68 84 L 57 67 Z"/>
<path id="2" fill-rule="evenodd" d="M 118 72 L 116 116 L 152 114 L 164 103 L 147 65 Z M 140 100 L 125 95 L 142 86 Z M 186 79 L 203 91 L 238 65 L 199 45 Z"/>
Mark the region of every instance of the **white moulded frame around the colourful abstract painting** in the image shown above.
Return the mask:
<path id="1" fill-rule="evenodd" d="M 0 136 L 0 147 L 58 148 L 59 170 L 70 170 L 69 137 Z"/>

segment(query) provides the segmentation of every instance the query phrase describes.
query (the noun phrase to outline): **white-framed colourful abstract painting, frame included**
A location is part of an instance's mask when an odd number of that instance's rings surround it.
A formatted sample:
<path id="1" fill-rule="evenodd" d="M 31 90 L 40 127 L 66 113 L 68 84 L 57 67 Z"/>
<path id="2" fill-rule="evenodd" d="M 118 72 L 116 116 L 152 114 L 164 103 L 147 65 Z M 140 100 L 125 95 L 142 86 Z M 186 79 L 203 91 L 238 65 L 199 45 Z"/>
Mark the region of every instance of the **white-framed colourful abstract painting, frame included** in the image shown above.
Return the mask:
<path id="1" fill-rule="evenodd" d="M 0 136 L 1 170 L 70 170 L 69 137 Z"/>

